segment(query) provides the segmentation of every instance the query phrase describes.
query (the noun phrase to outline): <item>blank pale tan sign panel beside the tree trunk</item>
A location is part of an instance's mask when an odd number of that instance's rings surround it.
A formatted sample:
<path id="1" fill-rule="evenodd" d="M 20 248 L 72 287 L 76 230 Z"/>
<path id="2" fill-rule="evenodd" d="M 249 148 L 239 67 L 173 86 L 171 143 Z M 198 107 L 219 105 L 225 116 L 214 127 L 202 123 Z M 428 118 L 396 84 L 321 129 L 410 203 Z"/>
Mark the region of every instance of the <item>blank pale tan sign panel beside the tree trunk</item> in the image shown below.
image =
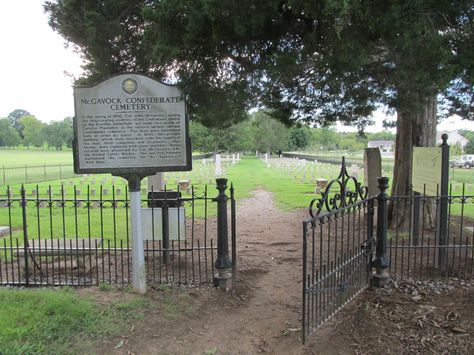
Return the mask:
<path id="1" fill-rule="evenodd" d="M 419 193 L 435 196 L 440 192 L 441 147 L 413 148 L 412 185 Z"/>

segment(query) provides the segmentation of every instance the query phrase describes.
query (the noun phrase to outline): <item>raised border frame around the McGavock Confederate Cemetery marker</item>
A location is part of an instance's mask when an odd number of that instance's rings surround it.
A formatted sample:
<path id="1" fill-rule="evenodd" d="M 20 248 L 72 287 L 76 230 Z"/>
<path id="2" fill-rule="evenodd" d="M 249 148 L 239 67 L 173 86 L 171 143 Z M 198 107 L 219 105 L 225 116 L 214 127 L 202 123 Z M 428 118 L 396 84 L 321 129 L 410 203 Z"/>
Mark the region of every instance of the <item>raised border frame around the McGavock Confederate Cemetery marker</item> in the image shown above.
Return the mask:
<path id="1" fill-rule="evenodd" d="M 144 77 L 149 80 L 153 80 L 154 82 L 165 85 L 168 87 L 176 88 L 178 92 L 183 97 L 183 104 L 184 104 L 184 154 L 185 154 L 185 164 L 180 165 L 157 165 L 157 166 L 146 166 L 146 167 L 98 167 L 98 168 L 83 168 L 80 166 L 80 147 L 78 144 L 79 141 L 79 129 L 78 129 L 78 120 L 79 118 L 76 116 L 78 112 L 78 94 L 76 89 L 84 89 L 84 88 L 93 88 L 97 87 L 104 82 L 113 79 L 118 76 L 135 76 L 135 77 Z M 74 172 L 76 174 L 104 174 L 110 173 L 115 176 L 122 176 L 127 178 L 131 175 L 137 175 L 141 177 L 146 177 L 150 175 L 155 175 L 158 172 L 165 172 L 165 171 L 190 171 L 192 170 L 192 148 L 191 148 L 191 138 L 189 135 L 189 117 L 187 112 L 187 105 L 186 105 L 186 97 L 182 94 L 181 90 L 177 87 L 177 85 L 171 85 L 167 83 L 163 83 L 155 78 L 152 78 L 148 75 L 141 74 L 141 73 L 133 73 L 133 72 L 125 72 L 111 75 L 99 82 L 90 85 L 76 85 L 74 86 L 74 117 L 73 117 L 73 127 L 74 127 L 74 140 L 73 140 L 73 159 L 74 159 Z"/>

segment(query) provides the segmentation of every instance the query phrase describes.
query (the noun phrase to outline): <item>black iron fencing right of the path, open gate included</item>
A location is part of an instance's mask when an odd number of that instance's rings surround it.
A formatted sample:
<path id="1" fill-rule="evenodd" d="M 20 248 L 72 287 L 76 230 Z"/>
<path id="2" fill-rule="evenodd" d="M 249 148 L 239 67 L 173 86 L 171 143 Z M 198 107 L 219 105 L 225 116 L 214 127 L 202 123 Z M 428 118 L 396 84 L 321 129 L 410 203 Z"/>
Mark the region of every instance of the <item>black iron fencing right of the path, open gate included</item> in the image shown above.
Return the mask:
<path id="1" fill-rule="evenodd" d="M 367 198 L 346 170 L 303 222 L 302 339 L 369 285 L 474 276 L 474 196 L 388 196 L 388 178 Z M 438 189 L 440 190 L 440 189 Z M 426 191 L 426 188 L 425 190 Z M 376 232 L 374 232 L 376 230 Z"/>

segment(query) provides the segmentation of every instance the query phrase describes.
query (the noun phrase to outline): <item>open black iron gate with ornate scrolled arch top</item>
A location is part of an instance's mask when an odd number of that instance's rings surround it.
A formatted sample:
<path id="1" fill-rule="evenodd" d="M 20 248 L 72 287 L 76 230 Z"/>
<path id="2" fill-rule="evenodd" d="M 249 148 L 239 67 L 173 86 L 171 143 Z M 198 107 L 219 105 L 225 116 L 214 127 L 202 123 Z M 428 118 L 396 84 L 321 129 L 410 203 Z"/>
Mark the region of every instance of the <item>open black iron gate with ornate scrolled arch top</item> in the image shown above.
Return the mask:
<path id="1" fill-rule="evenodd" d="M 302 339 L 369 286 L 374 245 L 374 198 L 349 176 L 339 176 L 311 201 L 303 222 Z"/>

